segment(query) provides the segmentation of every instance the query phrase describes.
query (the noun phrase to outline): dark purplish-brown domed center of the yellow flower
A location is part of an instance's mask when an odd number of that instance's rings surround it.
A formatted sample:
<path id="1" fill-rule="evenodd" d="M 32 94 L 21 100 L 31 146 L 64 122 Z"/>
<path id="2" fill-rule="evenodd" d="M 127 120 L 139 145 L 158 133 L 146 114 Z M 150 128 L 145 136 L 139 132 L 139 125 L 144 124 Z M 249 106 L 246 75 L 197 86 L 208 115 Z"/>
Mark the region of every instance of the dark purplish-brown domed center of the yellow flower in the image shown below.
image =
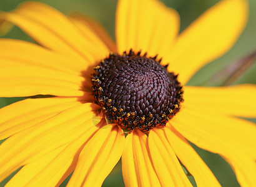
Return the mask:
<path id="1" fill-rule="evenodd" d="M 110 54 L 92 74 L 92 93 L 106 117 L 127 130 L 147 132 L 165 124 L 183 102 L 177 75 L 168 72 L 156 57 L 130 50 Z"/>

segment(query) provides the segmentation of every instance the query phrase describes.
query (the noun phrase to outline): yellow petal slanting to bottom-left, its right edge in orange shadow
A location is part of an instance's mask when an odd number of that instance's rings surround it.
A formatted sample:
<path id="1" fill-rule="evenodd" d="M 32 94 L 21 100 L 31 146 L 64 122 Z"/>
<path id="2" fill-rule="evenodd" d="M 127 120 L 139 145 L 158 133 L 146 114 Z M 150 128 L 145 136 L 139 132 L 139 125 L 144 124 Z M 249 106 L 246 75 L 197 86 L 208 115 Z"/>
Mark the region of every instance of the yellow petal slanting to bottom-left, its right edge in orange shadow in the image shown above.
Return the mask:
<path id="1" fill-rule="evenodd" d="M 97 130 L 99 128 L 91 126 L 81 137 L 64 146 L 64 148 L 61 147 L 61 151 L 58 151 L 57 154 L 53 155 L 51 153 L 52 156 L 43 156 L 39 160 L 23 166 L 7 185 L 59 186 L 74 171 L 79 153 Z"/>

